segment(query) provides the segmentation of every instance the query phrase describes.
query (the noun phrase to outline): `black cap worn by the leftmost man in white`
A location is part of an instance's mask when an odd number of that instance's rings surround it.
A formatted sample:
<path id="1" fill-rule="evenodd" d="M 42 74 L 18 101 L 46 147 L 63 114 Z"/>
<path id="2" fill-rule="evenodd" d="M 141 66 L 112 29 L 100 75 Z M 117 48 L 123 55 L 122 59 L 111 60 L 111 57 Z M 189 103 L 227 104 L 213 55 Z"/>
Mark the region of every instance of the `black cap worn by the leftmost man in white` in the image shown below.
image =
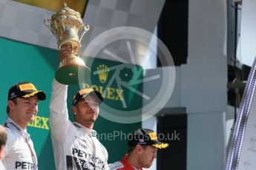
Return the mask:
<path id="1" fill-rule="evenodd" d="M 15 98 L 31 98 L 37 95 L 39 101 L 44 101 L 46 98 L 45 92 L 38 91 L 36 86 L 30 82 L 21 82 L 10 87 L 8 92 L 8 101 Z"/>

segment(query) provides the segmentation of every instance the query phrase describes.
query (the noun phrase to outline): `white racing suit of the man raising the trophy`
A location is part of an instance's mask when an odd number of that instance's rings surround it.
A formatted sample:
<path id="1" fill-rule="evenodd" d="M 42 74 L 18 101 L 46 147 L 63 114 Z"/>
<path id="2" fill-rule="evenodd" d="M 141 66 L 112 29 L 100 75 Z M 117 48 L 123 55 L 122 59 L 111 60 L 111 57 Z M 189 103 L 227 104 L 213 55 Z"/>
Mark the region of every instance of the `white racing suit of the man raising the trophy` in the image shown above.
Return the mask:
<path id="1" fill-rule="evenodd" d="M 50 135 L 58 170 L 108 169 L 108 152 L 96 138 L 96 131 L 68 118 L 68 86 L 53 80 L 50 101 Z"/>

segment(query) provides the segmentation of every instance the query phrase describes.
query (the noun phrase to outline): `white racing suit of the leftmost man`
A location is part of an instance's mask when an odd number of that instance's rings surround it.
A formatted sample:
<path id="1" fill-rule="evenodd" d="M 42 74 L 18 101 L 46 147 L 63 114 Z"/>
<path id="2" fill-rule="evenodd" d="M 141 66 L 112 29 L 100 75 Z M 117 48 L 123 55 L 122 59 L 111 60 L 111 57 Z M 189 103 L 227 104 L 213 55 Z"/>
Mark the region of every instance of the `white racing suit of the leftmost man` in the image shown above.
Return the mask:
<path id="1" fill-rule="evenodd" d="M 4 123 L 7 143 L 2 160 L 5 169 L 37 169 L 36 152 L 27 130 L 23 130 L 12 119 Z"/>

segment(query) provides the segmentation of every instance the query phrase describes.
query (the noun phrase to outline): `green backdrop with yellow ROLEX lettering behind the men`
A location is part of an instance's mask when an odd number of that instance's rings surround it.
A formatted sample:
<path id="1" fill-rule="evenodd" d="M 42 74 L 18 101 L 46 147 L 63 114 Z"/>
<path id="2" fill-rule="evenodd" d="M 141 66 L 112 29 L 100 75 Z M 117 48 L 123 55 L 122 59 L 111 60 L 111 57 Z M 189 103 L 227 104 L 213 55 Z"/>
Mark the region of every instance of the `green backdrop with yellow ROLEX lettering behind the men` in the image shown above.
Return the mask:
<path id="1" fill-rule="evenodd" d="M 39 102 L 39 112 L 33 123 L 30 123 L 27 131 L 32 137 L 36 154 L 39 159 L 39 169 L 55 169 L 53 160 L 53 147 L 50 139 L 49 125 L 49 103 L 51 94 L 51 85 L 56 69 L 59 67 L 59 51 L 38 47 L 31 44 L 24 44 L 19 41 L 13 41 L 6 38 L 0 38 L 1 47 L 1 83 L 0 83 L 0 123 L 4 123 L 7 118 L 7 92 L 10 86 L 19 81 L 30 81 L 35 84 L 37 89 L 45 91 L 47 99 Z M 108 74 L 99 75 L 93 74 L 97 69 L 102 67 L 110 68 L 118 65 L 118 62 L 106 61 L 101 59 L 88 59 L 88 66 L 91 67 L 91 81 L 86 84 L 81 84 L 82 87 L 92 87 L 99 91 L 106 90 L 105 103 L 109 108 L 120 110 L 122 115 L 123 100 L 127 104 L 128 109 L 138 110 L 137 114 L 141 115 L 142 99 L 135 96 L 128 88 L 118 88 L 117 81 L 126 81 L 132 78 L 132 68 L 138 66 L 128 65 L 122 69 L 123 75 L 121 79 L 116 79 L 111 84 L 108 81 L 113 75 L 113 70 Z M 142 68 L 140 68 L 142 69 Z M 127 73 L 125 73 L 127 71 Z M 141 75 L 142 78 L 142 75 Z M 133 86 L 134 87 L 134 86 Z M 135 86 L 137 90 L 142 92 L 142 84 Z M 68 108 L 71 106 L 73 94 L 79 89 L 78 85 L 69 86 L 68 91 Z M 122 98 L 123 96 L 123 98 Z M 139 109 L 138 109 L 139 108 Z M 107 113 L 111 114 L 111 110 L 101 109 L 99 115 Z M 70 112 L 70 120 L 73 120 L 73 114 Z M 108 163 L 120 160 L 123 154 L 127 152 L 127 141 L 125 137 L 128 132 L 141 127 L 141 123 L 115 123 L 111 120 L 99 116 L 94 125 L 94 129 L 99 134 L 99 140 L 105 145 L 108 150 Z"/>

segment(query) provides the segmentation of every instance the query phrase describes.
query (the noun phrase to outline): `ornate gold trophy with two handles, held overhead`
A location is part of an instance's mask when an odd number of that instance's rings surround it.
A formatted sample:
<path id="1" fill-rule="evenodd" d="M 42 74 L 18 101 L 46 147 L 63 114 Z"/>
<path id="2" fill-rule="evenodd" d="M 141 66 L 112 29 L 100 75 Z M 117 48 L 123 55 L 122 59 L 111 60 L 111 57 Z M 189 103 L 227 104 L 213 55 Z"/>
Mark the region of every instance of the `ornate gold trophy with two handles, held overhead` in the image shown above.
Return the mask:
<path id="1" fill-rule="evenodd" d="M 50 19 L 44 20 L 45 25 L 50 28 L 56 36 L 59 50 L 63 44 L 71 44 L 72 55 L 68 55 L 59 64 L 59 69 L 55 73 L 56 81 L 61 84 L 78 84 L 79 74 L 87 78 L 90 76 L 90 69 L 85 65 L 85 61 L 79 58 L 77 52 L 81 47 L 83 35 L 90 29 L 87 24 L 82 23 L 79 12 L 63 4 L 62 8 Z M 79 32 L 84 30 L 79 38 Z"/>

